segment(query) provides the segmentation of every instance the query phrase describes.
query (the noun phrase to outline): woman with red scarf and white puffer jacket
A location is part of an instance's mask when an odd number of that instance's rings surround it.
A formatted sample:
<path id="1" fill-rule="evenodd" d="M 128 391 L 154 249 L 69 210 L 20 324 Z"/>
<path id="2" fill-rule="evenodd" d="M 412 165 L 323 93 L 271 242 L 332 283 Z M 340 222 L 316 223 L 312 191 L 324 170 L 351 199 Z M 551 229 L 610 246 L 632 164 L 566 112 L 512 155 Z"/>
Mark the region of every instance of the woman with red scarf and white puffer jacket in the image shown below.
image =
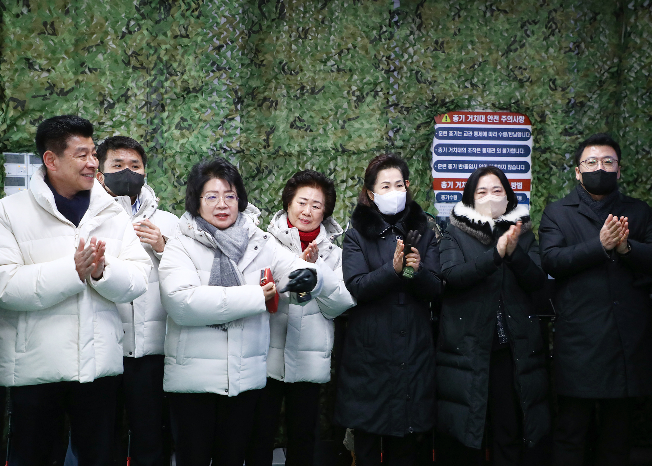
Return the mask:
<path id="1" fill-rule="evenodd" d="M 284 398 L 286 464 L 313 462 L 319 384 L 331 380 L 333 318 L 355 305 L 342 279 L 342 249 L 333 243 L 344 233 L 332 217 L 335 200 L 333 180 L 314 170 L 297 172 L 283 190 L 283 210 L 267 227 L 280 247 L 319 266 L 326 291 L 303 307 L 282 301 L 269 318 L 265 409 L 252 439 L 258 452 L 255 461 L 248 461 L 252 466 L 272 462 Z"/>

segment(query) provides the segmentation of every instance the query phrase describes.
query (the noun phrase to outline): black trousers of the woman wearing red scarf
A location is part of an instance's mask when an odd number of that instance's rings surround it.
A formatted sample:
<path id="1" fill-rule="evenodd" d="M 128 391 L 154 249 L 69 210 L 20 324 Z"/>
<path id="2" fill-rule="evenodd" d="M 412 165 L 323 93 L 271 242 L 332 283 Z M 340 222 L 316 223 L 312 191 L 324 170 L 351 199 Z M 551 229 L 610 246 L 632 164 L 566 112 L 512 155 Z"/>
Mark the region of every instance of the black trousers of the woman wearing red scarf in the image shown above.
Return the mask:
<path id="1" fill-rule="evenodd" d="M 286 466 L 311 466 L 315 454 L 315 429 L 319 414 L 319 384 L 285 383 L 267 377 L 260 422 L 254 427 L 246 457 L 247 466 L 270 466 L 274 454 L 274 437 L 285 397 L 288 432 Z"/>

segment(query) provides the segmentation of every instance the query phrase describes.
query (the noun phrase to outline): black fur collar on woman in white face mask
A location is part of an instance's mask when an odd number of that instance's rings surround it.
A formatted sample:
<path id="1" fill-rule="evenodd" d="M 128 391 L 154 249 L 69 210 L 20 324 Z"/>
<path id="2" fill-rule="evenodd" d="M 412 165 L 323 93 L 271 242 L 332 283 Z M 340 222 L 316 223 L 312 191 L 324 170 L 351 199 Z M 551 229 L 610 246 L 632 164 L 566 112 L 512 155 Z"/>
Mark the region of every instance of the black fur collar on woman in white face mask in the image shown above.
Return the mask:
<path id="1" fill-rule="evenodd" d="M 409 202 L 404 210 L 405 214 L 400 221 L 396 222 L 396 227 L 407 234 L 409 230 L 417 230 L 423 234 L 428 228 L 428 218 L 419 204 L 415 201 Z M 375 240 L 383 232 L 390 228 L 391 225 L 383 219 L 378 210 L 358 204 L 351 215 L 351 226 L 367 240 Z"/>

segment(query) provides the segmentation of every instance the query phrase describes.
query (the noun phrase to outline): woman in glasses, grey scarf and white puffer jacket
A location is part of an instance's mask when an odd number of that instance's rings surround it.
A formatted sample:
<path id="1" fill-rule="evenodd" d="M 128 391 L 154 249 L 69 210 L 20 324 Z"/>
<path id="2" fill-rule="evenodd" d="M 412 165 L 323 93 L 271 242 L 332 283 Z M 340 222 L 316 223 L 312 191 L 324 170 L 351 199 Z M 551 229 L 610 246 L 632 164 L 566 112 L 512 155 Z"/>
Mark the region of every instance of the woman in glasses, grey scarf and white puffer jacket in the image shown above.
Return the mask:
<path id="1" fill-rule="evenodd" d="M 211 458 L 243 464 L 267 380 L 265 302 L 275 294 L 273 283 L 261 286 L 261 270 L 271 270 L 279 290 L 310 291 L 313 299 L 329 293 L 318 266 L 256 226 L 259 213 L 247 203 L 237 168 L 222 157 L 190 170 L 181 231 L 158 270 L 168 311 L 164 387 L 180 466 Z"/>

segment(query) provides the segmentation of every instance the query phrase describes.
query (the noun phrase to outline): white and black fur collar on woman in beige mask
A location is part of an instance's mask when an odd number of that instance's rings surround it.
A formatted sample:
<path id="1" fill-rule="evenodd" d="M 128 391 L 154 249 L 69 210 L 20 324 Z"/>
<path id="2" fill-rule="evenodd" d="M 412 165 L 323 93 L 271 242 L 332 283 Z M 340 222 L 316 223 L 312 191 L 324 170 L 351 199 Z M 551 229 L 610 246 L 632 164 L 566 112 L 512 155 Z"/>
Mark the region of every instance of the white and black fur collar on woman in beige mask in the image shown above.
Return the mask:
<path id="1" fill-rule="evenodd" d="M 451 225 L 460 228 L 482 244 L 490 244 L 496 236 L 507 231 L 509 226 L 516 225 L 519 220 L 523 222 L 522 234 L 532 229 L 529 209 L 523 204 L 518 204 L 516 208 L 497 219 L 485 217 L 474 208 L 465 206 L 461 201 L 455 204 L 451 211 Z"/>

